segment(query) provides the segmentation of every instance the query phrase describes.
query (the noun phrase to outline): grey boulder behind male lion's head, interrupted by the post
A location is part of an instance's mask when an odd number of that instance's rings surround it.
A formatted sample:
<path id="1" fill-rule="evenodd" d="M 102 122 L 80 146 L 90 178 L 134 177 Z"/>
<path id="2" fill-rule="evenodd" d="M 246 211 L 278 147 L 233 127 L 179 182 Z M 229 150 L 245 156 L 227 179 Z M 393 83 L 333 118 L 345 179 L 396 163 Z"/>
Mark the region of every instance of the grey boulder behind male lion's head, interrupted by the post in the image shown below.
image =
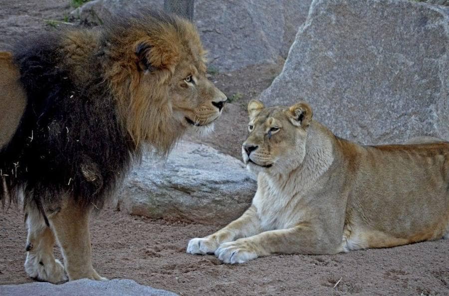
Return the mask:
<path id="1" fill-rule="evenodd" d="M 274 64 L 285 58 L 311 0 L 196 0 L 194 20 L 211 68 L 232 71 L 249 65 Z M 153 7 L 163 0 L 93 0 L 71 15 L 91 23 L 119 11 Z"/>

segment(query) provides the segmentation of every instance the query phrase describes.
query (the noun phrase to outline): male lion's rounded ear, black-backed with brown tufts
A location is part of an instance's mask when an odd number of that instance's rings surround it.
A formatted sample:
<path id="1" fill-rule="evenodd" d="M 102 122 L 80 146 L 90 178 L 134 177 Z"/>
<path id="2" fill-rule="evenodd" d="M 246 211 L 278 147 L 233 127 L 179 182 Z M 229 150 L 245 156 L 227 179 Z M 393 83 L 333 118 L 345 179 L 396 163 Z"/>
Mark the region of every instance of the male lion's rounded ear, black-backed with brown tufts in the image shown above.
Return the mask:
<path id="1" fill-rule="evenodd" d="M 179 59 L 179 50 L 164 40 L 139 41 L 136 44 L 137 66 L 141 71 L 169 69 L 174 71 Z"/>

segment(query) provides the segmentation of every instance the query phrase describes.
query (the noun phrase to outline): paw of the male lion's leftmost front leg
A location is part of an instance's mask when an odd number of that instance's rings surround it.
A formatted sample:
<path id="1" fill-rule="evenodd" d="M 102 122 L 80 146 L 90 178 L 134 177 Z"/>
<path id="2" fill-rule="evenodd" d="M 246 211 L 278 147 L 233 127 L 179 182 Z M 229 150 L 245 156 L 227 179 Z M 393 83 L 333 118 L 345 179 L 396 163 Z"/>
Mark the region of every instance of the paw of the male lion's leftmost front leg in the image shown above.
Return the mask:
<path id="1" fill-rule="evenodd" d="M 68 278 L 65 274 L 64 266 L 57 259 L 39 258 L 28 254 L 25 261 L 25 272 L 33 279 L 42 282 L 59 284 L 67 282 Z"/>

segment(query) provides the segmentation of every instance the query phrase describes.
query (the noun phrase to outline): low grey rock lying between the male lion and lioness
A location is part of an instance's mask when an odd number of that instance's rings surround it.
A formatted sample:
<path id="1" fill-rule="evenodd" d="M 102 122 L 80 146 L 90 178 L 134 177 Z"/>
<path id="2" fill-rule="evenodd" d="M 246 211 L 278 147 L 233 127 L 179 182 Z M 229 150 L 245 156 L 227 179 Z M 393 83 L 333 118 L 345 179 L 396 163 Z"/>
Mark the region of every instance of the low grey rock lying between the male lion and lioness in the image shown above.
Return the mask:
<path id="1" fill-rule="evenodd" d="M 120 209 L 154 219 L 226 223 L 256 190 L 241 161 L 206 145 L 181 142 L 167 160 L 147 155 L 119 194 Z"/>

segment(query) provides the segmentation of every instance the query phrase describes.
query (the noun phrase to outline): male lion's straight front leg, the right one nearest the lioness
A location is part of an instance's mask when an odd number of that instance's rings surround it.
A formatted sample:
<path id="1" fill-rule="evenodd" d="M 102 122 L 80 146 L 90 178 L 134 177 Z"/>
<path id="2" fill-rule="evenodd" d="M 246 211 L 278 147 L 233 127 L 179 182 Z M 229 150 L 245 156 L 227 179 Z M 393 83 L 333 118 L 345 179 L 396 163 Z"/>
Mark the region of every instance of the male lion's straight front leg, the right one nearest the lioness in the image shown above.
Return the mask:
<path id="1" fill-rule="evenodd" d="M 65 270 L 70 281 L 78 279 L 106 280 L 92 267 L 89 216 L 85 209 L 67 200 L 60 211 L 48 217 L 64 257 Z"/>

